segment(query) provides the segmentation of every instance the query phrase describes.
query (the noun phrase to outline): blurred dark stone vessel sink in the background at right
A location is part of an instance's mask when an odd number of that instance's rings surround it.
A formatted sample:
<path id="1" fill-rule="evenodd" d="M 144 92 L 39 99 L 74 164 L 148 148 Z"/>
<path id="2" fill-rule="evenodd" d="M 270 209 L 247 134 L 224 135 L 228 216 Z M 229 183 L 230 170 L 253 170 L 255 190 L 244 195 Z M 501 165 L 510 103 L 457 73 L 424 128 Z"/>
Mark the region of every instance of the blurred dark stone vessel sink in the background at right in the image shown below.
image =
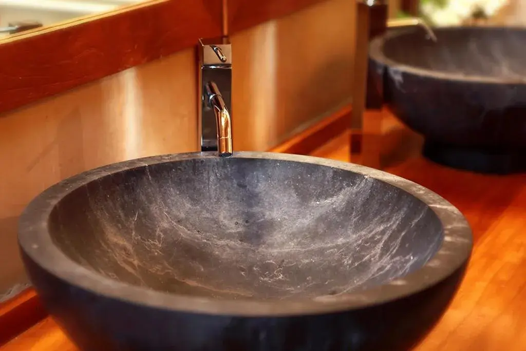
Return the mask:
<path id="1" fill-rule="evenodd" d="M 477 172 L 526 170 L 526 30 L 418 29 L 373 39 L 370 63 L 395 114 L 426 138 L 424 155 Z"/>

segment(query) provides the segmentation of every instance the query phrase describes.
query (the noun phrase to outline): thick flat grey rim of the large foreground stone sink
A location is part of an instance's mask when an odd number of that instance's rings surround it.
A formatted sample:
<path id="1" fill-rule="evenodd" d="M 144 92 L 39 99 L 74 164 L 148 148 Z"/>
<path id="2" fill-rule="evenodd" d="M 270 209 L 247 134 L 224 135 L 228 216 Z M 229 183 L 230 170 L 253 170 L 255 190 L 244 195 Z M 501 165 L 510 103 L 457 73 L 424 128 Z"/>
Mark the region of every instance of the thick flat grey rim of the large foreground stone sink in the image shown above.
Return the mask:
<path id="1" fill-rule="evenodd" d="M 181 295 L 115 281 L 74 262 L 53 244 L 48 218 L 55 204 L 74 189 L 112 173 L 158 163 L 217 158 L 216 152 L 166 154 L 95 168 L 65 179 L 38 194 L 22 212 L 18 245 L 24 254 L 52 276 L 104 297 L 174 312 L 237 316 L 284 316 L 338 312 L 387 303 L 426 290 L 461 270 L 472 251 L 471 228 L 462 213 L 440 195 L 407 179 L 358 164 L 296 154 L 235 152 L 232 158 L 271 159 L 327 166 L 391 184 L 424 202 L 438 216 L 444 240 L 430 260 L 416 271 L 388 283 L 343 295 L 298 300 L 223 300 Z"/>

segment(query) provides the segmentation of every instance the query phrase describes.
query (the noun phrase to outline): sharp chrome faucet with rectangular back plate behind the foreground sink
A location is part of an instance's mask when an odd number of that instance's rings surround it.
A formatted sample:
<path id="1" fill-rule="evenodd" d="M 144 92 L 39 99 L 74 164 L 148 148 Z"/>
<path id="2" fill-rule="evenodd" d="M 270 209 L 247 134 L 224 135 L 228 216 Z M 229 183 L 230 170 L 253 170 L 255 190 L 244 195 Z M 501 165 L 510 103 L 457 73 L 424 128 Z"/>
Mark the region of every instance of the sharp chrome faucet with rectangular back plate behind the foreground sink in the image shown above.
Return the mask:
<path id="1" fill-rule="evenodd" d="M 199 39 L 198 136 L 201 151 L 232 156 L 232 53 L 227 37 Z"/>

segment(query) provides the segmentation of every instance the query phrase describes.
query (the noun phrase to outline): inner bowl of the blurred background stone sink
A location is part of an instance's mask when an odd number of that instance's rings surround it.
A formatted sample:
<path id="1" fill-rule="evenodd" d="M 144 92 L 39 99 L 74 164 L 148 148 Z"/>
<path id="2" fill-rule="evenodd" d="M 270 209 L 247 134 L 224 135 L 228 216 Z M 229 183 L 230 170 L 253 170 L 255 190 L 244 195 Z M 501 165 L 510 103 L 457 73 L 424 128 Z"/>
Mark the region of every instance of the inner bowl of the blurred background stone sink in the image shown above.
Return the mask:
<path id="1" fill-rule="evenodd" d="M 465 76 L 526 77 L 526 30 L 437 28 L 437 43 L 418 30 L 385 41 L 383 54 L 396 63 Z"/>

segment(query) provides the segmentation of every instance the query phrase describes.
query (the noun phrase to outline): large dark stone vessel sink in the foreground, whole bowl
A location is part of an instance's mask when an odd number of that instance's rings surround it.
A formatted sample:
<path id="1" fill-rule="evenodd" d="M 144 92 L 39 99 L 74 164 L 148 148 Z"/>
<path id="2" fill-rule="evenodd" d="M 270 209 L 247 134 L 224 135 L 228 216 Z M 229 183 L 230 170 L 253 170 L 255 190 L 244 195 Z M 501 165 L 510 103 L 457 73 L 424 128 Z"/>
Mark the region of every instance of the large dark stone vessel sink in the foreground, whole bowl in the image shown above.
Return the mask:
<path id="1" fill-rule="evenodd" d="M 471 253 L 439 195 L 350 163 L 157 156 L 64 180 L 23 212 L 46 308 L 82 350 L 406 350 Z"/>

